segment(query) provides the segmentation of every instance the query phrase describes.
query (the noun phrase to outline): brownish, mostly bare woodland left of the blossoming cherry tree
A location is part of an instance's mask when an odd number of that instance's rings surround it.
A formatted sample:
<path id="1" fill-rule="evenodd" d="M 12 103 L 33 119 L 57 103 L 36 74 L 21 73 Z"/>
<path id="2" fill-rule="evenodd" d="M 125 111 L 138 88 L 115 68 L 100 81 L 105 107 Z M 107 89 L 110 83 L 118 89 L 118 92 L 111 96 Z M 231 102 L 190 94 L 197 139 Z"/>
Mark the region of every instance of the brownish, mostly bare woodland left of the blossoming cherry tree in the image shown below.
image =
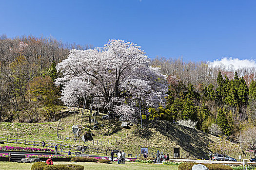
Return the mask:
<path id="1" fill-rule="evenodd" d="M 52 37 L 20 36 L 7 38 L 0 36 L 0 121 L 33 122 L 39 119 L 54 120 L 47 112 L 53 102 L 52 94 L 56 93 L 53 80 L 57 78 L 54 63 L 59 63 L 69 55 L 70 49 L 88 49 L 90 46 L 79 46 L 58 41 Z M 52 66 L 52 67 L 51 67 Z M 48 79 L 47 76 L 51 78 Z M 39 81 L 40 80 L 40 81 Z M 48 97 L 36 97 L 33 92 L 36 83 L 45 83 L 54 90 L 45 89 Z M 46 83 L 47 82 L 47 83 Z M 36 87 L 39 88 L 39 87 Z M 42 89 L 40 89 L 42 90 Z M 59 96 L 58 96 L 59 97 Z M 42 99 L 52 100 L 51 104 Z M 45 105 L 48 103 L 49 105 Z M 44 109 L 41 108 L 43 106 Z M 42 114 L 41 114 L 42 113 Z"/>

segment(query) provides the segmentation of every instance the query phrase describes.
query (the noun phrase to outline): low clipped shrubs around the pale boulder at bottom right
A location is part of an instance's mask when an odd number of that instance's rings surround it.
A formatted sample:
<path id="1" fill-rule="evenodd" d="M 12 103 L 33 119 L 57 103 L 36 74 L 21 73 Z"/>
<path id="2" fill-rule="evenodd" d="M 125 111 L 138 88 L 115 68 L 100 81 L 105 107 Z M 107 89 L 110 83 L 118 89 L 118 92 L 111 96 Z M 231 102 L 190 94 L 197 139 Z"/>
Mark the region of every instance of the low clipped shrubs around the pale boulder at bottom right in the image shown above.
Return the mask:
<path id="1" fill-rule="evenodd" d="M 178 166 L 178 170 L 191 170 L 193 165 L 196 165 L 199 163 L 194 162 L 185 162 Z M 231 167 L 226 165 L 220 165 L 220 164 L 202 164 L 206 166 L 209 170 L 233 170 Z"/>

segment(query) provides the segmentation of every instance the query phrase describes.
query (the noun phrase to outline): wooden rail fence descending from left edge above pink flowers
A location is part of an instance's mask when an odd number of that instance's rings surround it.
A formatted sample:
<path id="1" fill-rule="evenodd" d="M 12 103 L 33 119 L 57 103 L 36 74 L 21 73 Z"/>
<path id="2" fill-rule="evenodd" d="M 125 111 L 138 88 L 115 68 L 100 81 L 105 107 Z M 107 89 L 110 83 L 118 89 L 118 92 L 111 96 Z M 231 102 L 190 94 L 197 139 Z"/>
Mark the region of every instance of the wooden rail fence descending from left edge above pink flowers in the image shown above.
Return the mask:
<path id="1" fill-rule="evenodd" d="M 7 142 L 7 143 L 20 143 L 20 144 L 24 144 L 24 145 L 42 146 L 41 141 L 29 141 L 26 139 L 10 139 L 10 138 L 6 138 L 6 137 L 0 137 L 0 141 Z M 45 142 L 45 147 L 48 147 L 48 148 L 54 148 L 55 145 L 59 145 L 60 150 L 62 149 L 62 150 L 81 151 L 80 146 L 62 145 L 59 143 L 46 143 Z M 84 149 L 84 152 L 104 153 L 107 155 L 107 150 L 91 148 L 91 147 L 86 147 Z"/>

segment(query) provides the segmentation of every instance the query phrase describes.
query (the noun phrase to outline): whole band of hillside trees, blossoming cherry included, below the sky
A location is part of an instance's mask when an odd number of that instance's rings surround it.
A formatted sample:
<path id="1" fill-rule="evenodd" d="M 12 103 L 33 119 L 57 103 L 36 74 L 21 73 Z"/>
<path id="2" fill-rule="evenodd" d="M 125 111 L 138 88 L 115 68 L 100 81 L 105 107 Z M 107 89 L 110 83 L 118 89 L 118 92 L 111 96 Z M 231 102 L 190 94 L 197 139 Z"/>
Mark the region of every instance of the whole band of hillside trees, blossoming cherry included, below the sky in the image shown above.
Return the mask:
<path id="1" fill-rule="evenodd" d="M 182 58 L 149 59 L 121 40 L 92 49 L 52 37 L 2 35 L 0 121 L 56 121 L 65 104 L 111 118 L 183 123 L 256 150 L 250 139 L 256 136 L 255 73 Z"/>

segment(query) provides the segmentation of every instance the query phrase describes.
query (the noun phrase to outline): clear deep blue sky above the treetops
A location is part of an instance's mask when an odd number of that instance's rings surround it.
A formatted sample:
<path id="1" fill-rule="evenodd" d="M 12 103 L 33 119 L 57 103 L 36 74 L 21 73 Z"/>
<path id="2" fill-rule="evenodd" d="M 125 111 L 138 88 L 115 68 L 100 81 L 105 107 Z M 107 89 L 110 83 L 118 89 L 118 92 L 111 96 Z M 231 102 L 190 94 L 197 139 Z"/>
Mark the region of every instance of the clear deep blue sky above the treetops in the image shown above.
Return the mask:
<path id="1" fill-rule="evenodd" d="M 256 0 L 0 0 L 0 34 L 103 46 L 132 41 L 151 58 L 256 59 Z"/>

